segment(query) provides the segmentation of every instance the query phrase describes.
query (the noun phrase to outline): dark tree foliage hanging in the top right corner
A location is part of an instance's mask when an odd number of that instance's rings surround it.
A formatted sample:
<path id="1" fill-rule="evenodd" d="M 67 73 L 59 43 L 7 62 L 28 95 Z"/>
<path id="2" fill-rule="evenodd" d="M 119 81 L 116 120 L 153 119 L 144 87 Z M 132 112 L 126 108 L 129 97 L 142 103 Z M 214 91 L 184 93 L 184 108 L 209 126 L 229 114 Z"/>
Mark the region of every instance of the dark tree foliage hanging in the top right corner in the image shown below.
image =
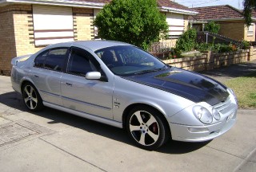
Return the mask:
<path id="1" fill-rule="evenodd" d="M 246 20 L 246 25 L 250 25 L 252 22 L 251 20 L 251 14 L 252 10 L 256 9 L 256 0 L 245 0 L 243 2 L 244 10 L 243 10 L 243 15 Z"/>

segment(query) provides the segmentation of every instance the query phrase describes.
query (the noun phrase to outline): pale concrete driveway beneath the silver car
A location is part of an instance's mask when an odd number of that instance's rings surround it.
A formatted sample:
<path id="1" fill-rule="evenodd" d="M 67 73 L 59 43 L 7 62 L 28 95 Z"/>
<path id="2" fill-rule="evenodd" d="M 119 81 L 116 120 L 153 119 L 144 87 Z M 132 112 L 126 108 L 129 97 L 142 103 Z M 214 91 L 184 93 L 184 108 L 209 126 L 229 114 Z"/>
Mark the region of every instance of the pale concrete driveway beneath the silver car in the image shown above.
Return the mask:
<path id="1" fill-rule="evenodd" d="M 0 76 L 0 169 L 4 171 L 256 171 L 256 112 L 207 143 L 134 146 L 122 129 L 46 108 L 26 111 Z"/>

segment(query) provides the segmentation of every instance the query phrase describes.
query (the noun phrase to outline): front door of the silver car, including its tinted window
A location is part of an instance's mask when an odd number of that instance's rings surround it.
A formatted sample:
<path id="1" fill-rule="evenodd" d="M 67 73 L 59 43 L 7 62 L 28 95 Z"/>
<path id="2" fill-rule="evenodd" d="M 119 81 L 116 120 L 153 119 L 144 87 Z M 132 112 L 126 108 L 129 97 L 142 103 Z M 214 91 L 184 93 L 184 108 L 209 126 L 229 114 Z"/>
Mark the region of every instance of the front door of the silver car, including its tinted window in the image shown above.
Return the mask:
<path id="1" fill-rule="evenodd" d="M 75 111 L 113 119 L 114 83 L 86 80 L 86 73 L 93 71 L 102 72 L 98 61 L 85 49 L 72 47 L 66 73 L 63 73 L 61 79 L 63 105 Z"/>

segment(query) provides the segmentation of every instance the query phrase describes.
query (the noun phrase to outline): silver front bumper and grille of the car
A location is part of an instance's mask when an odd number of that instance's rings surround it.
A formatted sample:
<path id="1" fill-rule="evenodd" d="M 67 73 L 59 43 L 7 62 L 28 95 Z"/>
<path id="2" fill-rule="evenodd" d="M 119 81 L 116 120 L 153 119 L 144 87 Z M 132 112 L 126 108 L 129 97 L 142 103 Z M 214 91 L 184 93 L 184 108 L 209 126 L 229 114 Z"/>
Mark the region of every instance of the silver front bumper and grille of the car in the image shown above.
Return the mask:
<path id="1" fill-rule="evenodd" d="M 204 142 L 229 131 L 237 119 L 238 105 L 232 97 L 214 106 L 222 118 L 212 124 L 184 125 L 170 122 L 172 139 L 183 142 Z"/>

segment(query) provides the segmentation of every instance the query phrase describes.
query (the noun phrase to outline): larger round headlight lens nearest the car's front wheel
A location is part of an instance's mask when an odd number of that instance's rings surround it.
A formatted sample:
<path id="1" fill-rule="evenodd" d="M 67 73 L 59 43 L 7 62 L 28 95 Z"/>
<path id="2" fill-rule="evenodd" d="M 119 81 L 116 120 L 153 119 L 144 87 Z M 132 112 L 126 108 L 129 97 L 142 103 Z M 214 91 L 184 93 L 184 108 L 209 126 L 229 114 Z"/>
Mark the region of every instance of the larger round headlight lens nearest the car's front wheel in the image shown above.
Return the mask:
<path id="1" fill-rule="evenodd" d="M 202 123 L 210 124 L 213 122 L 213 115 L 202 106 L 194 106 L 193 113 Z"/>

